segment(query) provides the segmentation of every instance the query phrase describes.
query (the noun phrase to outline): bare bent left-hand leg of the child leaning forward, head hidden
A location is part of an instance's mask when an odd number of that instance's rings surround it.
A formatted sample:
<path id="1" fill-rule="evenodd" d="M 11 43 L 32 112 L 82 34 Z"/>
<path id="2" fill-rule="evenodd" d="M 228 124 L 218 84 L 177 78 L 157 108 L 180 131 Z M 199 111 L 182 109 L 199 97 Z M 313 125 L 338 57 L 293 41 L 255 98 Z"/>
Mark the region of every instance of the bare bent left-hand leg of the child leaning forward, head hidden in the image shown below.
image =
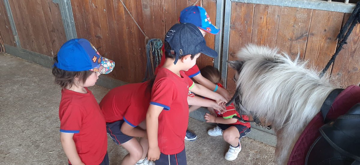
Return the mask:
<path id="1" fill-rule="evenodd" d="M 129 154 L 125 155 L 122 159 L 122 165 L 135 164 L 141 159 L 141 156 L 143 156 L 143 147 L 136 138 L 132 138 L 131 140 L 121 144 L 121 146 L 129 152 Z"/>

